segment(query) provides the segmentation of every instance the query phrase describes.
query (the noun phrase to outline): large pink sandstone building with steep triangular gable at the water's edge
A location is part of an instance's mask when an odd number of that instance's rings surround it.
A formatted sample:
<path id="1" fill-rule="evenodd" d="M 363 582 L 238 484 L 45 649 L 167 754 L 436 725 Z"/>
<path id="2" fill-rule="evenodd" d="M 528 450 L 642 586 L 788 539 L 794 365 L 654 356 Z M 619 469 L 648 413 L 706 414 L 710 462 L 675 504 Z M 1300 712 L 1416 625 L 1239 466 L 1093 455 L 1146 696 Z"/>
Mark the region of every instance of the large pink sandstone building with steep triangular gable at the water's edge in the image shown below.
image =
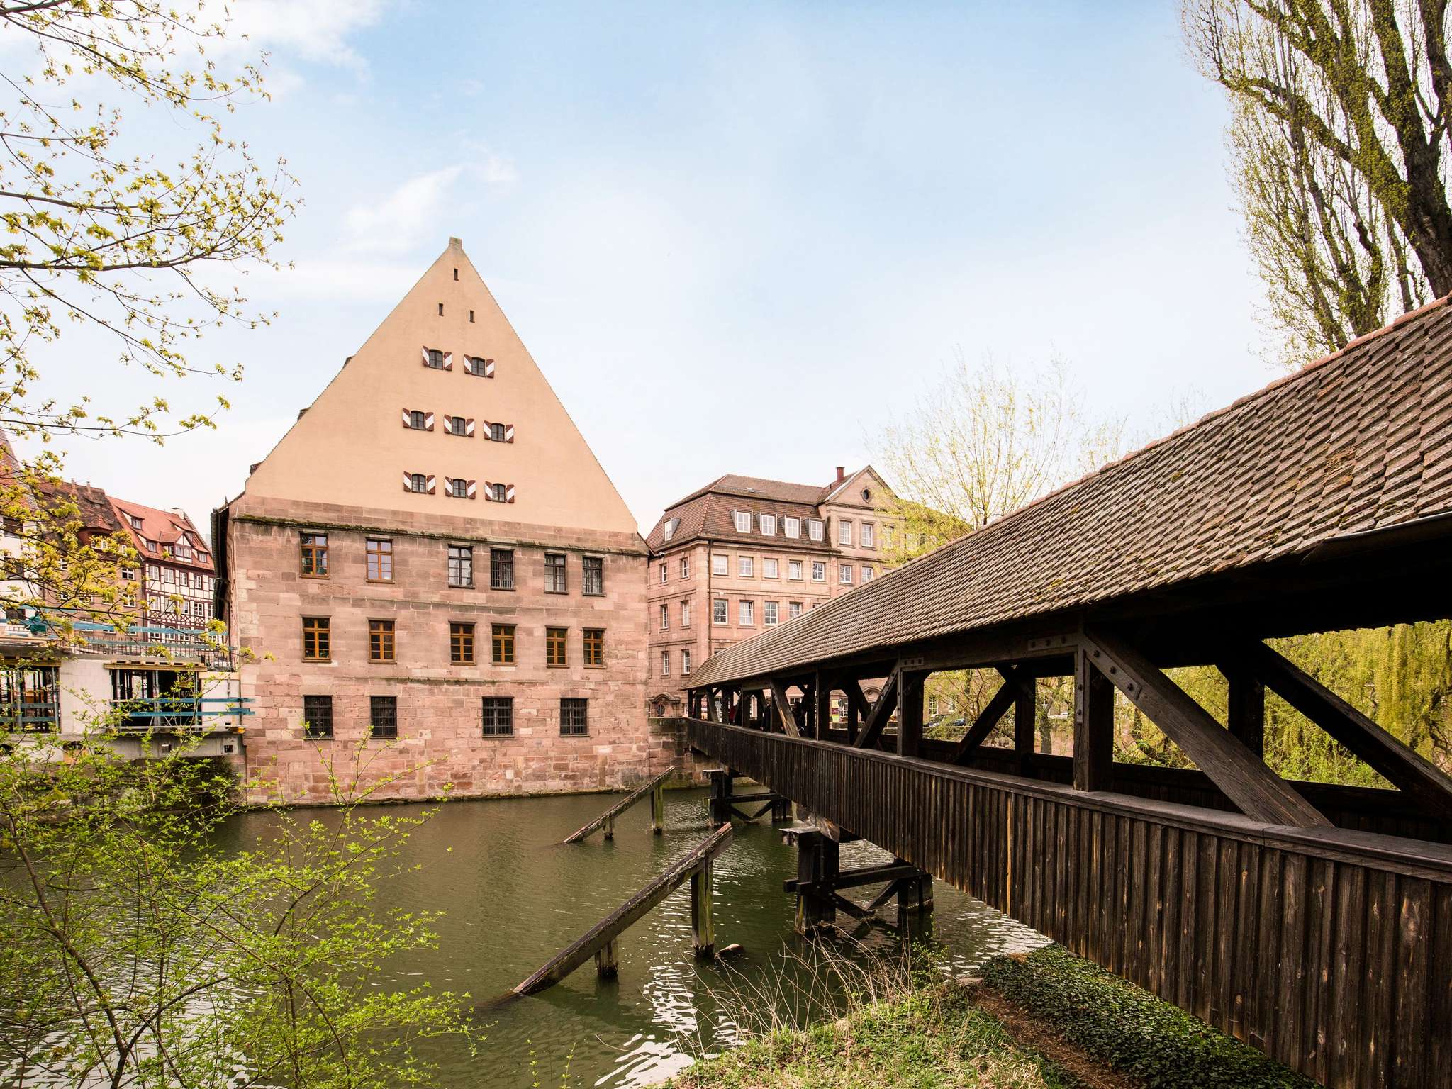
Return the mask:
<path id="1" fill-rule="evenodd" d="M 645 542 L 457 240 L 212 542 L 248 761 L 289 797 L 328 800 L 330 762 L 431 797 L 669 759 L 645 719 Z"/>

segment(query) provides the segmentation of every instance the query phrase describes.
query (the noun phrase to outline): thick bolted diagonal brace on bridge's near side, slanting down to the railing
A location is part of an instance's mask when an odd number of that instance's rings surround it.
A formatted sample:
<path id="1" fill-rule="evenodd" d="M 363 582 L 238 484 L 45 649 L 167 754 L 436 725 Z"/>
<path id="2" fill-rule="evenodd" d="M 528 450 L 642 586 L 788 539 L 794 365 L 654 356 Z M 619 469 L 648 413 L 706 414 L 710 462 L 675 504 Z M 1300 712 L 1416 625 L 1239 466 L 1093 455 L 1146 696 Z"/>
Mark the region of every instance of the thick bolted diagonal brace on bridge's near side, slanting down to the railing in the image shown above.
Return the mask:
<path id="1" fill-rule="evenodd" d="M 1080 646 L 1086 661 L 1165 730 L 1246 816 L 1272 825 L 1330 828 L 1331 822 L 1310 802 L 1231 738 L 1204 707 L 1137 649 L 1106 632 L 1090 630 L 1082 636 Z M 1077 762 L 1076 745 L 1076 767 Z"/>

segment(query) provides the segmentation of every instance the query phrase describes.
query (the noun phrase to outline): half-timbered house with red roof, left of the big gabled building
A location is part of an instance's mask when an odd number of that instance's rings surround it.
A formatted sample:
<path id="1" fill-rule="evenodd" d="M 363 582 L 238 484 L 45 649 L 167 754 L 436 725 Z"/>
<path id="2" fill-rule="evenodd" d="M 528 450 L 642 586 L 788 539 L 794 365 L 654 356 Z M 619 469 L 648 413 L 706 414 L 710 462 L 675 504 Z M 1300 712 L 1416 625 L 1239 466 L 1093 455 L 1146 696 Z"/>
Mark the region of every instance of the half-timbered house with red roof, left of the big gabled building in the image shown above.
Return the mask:
<path id="1" fill-rule="evenodd" d="M 148 626 L 206 627 L 213 616 L 212 550 L 192 518 L 180 508 L 157 510 L 110 497 L 116 518 L 141 558 L 136 571 L 123 572 L 138 585 L 136 607 Z"/>

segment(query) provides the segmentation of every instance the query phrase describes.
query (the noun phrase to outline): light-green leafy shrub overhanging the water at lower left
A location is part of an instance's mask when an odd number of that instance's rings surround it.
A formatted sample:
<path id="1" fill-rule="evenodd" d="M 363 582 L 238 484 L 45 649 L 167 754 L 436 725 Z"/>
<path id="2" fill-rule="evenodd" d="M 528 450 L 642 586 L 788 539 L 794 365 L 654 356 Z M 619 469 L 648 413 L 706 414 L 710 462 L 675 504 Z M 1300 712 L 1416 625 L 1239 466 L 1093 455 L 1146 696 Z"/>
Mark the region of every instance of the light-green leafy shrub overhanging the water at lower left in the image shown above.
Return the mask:
<path id="1" fill-rule="evenodd" d="M 184 749 L 122 761 L 115 739 L 0 736 L 0 1080 L 428 1083 L 417 1041 L 469 1029 L 454 996 L 388 984 L 434 919 L 375 899 L 427 817 L 337 784 L 338 810 L 276 809 L 227 849 L 227 772 Z"/>

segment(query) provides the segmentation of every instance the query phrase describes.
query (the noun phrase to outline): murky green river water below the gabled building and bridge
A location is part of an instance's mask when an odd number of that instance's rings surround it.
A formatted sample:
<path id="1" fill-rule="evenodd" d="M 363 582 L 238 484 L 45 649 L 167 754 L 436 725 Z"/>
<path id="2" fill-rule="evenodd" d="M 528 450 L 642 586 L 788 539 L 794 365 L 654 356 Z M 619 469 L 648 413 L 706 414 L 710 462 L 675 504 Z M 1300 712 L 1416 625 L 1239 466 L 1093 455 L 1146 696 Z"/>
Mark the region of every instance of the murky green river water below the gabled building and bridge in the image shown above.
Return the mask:
<path id="1" fill-rule="evenodd" d="M 476 1002 L 502 995 L 579 937 L 710 832 L 706 791 L 665 796 L 664 835 L 652 835 L 642 802 L 616 822 L 616 838 L 559 841 L 610 806 L 608 794 L 449 802 L 408 845 L 421 868 L 383 889 L 405 909 L 446 912 L 434 951 L 395 966 L 398 984 L 430 980 Z M 414 810 L 415 807 L 401 807 Z M 263 832 L 266 815 L 244 815 L 229 829 L 240 841 Z M 842 867 L 887 861 L 870 844 L 842 848 Z M 767 820 L 736 826 L 716 861 L 717 947 L 742 954 L 722 964 L 691 953 L 690 889 L 682 887 L 626 931 L 620 976 L 600 982 L 585 964 L 556 987 L 479 1013 L 486 1035 L 476 1057 L 454 1041 L 424 1044 L 453 1089 L 523 1089 L 539 1080 L 571 1086 L 649 1085 L 684 1069 L 693 1054 L 719 1051 L 738 1037 L 741 996 L 802 1006 L 793 982 L 804 944 L 793 932 L 796 849 Z M 858 890 L 858 899 L 865 890 Z M 932 935 L 950 963 L 968 968 L 986 957 L 1028 950 L 1044 939 L 986 905 L 934 883 Z M 884 910 L 884 919 L 892 912 Z M 848 922 L 842 919 L 842 922 Z M 887 928 L 860 935 L 868 948 L 893 948 Z M 531 1054 L 534 1069 L 531 1070 Z"/>

